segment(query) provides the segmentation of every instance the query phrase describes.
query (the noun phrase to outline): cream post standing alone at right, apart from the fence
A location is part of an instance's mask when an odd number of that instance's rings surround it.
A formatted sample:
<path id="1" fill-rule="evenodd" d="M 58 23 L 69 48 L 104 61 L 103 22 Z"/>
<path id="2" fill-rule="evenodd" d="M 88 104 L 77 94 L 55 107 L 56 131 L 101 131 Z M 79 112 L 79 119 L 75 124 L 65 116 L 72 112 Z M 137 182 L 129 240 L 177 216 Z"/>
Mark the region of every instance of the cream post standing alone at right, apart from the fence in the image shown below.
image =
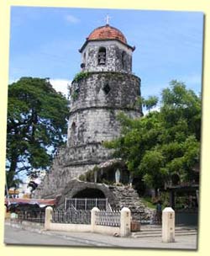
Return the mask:
<path id="1" fill-rule="evenodd" d="M 175 242 L 175 211 L 171 207 L 162 212 L 162 242 Z"/>

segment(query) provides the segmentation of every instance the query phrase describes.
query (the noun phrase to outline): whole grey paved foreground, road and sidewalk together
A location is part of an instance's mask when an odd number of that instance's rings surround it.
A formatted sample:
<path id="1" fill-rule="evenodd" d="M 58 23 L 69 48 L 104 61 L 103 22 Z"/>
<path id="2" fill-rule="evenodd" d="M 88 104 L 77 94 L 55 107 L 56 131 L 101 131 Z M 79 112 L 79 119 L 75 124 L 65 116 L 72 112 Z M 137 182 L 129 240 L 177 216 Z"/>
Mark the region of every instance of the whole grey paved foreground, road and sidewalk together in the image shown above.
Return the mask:
<path id="1" fill-rule="evenodd" d="M 177 236 L 175 243 L 162 243 L 161 237 L 112 237 L 91 232 L 52 232 L 40 228 L 5 225 L 4 243 L 33 245 L 65 245 L 102 248 L 171 248 L 197 249 L 197 235 Z"/>

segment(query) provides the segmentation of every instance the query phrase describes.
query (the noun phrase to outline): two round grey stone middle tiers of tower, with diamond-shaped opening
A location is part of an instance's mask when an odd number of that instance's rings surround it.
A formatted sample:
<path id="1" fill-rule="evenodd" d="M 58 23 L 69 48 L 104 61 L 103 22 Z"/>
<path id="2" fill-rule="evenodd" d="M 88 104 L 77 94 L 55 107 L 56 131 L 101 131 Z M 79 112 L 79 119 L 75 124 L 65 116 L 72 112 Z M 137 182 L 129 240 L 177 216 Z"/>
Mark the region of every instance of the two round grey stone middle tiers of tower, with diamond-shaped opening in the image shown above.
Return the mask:
<path id="1" fill-rule="evenodd" d="M 139 86 L 139 77 L 115 72 L 92 72 L 73 82 L 71 95 L 76 92 L 77 96 L 71 100 L 67 146 L 116 138 L 120 134 L 119 112 L 133 118 L 141 115 L 135 104 Z"/>

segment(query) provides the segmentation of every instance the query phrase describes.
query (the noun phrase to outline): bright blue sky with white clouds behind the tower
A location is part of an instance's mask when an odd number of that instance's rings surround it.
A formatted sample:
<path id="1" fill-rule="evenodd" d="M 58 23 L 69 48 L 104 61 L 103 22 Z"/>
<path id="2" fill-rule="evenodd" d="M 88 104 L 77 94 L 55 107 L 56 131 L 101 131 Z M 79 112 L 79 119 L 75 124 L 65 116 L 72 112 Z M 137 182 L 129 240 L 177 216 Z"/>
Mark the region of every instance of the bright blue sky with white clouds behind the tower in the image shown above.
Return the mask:
<path id="1" fill-rule="evenodd" d="M 12 7 L 10 83 L 20 77 L 50 77 L 66 93 L 66 84 L 80 72 L 78 49 L 93 29 L 105 24 L 107 14 L 110 25 L 136 47 L 133 72 L 142 80 L 142 96 L 160 96 L 172 79 L 201 92 L 200 12 Z"/>

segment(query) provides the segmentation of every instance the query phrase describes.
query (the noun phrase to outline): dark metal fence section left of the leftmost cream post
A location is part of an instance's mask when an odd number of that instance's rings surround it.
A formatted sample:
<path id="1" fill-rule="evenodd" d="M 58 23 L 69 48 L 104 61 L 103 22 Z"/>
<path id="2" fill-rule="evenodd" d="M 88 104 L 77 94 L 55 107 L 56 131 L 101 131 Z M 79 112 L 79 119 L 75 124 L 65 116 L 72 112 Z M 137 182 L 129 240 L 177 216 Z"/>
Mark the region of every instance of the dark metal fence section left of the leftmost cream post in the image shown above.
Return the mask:
<path id="1" fill-rule="evenodd" d="M 18 211 L 18 219 L 22 221 L 45 223 L 45 209 Z"/>

